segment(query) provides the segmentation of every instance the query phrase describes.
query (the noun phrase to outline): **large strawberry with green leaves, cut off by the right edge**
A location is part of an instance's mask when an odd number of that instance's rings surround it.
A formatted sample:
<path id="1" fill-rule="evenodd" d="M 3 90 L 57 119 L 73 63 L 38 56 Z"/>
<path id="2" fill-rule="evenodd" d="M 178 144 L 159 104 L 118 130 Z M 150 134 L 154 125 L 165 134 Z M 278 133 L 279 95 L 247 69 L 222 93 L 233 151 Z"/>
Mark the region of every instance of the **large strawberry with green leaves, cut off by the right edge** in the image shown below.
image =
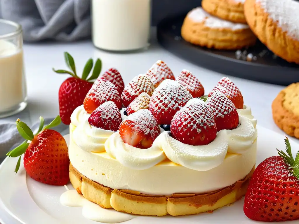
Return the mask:
<path id="1" fill-rule="evenodd" d="M 257 221 L 299 219 L 299 151 L 292 156 L 289 139 L 286 153 L 265 159 L 255 169 L 245 194 L 244 213 Z"/>

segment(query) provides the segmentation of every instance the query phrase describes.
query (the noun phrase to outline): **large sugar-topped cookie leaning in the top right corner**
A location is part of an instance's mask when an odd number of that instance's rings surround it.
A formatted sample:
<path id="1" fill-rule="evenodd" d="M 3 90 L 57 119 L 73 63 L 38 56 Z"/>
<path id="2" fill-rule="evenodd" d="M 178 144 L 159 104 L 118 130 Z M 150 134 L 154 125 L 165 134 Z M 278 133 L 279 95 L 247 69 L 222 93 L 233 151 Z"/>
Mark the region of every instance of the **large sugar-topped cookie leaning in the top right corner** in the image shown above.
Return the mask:
<path id="1" fill-rule="evenodd" d="M 246 0 L 251 30 L 277 56 L 299 64 L 299 1 Z"/>

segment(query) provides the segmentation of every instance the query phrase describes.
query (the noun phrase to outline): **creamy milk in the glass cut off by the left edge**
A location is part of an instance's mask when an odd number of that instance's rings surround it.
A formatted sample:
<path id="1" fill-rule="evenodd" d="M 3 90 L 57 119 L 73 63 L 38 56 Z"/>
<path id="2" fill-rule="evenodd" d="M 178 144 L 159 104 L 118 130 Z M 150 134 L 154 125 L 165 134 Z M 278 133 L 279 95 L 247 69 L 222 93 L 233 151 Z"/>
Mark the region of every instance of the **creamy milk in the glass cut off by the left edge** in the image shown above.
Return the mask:
<path id="1" fill-rule="evenodd" d="M 24 101 L 23 82 L 23 51 L 0 40 L 0 113 L 12 111 Z"/>

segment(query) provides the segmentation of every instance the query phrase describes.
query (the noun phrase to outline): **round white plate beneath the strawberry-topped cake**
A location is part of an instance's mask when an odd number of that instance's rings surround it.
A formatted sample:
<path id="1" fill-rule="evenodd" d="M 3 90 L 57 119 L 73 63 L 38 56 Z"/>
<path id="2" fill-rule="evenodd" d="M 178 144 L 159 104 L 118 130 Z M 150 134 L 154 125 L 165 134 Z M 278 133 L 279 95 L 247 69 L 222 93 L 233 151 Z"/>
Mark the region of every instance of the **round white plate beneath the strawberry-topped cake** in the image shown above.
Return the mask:
<path id="1" fill-rule="evenodd" d="M 68 142 L 68 135 L 65 136 Z M 285 136 L 266 128 L 258 127 L 257 164 L 270 156 L 277 155 L 276 148 L 285 149 Z M 293 155 L 299 145 L 291 140 Z M 96 224 L 82 215 L 82 208 L 65 207 L 60 204 L 60 195 L 65 192 L 64 186 L 50 186 L 34 181 L 24 170 L 21 162 L 20 170 L 14 174 L 17 158 L 6 158 L 0 165 L 0 207 L 3 207 L 14 219 L 23 224 Z M 74 189 L 68 184 L 69 189 Z M 181 217 L 146 217 L 136 216 L 126 224 L 151 223 L 257 223 L 249 220 L 243 213 L 244 199 L 231 206 L 220 208 L 212 214 Z M 42 221 L 41 221 L 42 220 Z M 10 222 L 12 223 L 12 222 Z"/>

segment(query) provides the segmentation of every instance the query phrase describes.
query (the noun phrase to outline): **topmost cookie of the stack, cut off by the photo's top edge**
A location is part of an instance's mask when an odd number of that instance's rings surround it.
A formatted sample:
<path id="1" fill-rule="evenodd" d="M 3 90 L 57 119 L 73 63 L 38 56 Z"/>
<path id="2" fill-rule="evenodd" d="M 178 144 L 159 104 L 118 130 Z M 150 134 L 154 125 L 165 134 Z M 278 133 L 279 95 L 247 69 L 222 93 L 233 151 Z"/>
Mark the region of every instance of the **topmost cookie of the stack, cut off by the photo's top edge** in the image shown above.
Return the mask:
<path id="1" fill-rule="evenodd" d="M 213 16 L 235 23 L 245 23 L 245 0 L 202 0 L 202 8 Z"/>

